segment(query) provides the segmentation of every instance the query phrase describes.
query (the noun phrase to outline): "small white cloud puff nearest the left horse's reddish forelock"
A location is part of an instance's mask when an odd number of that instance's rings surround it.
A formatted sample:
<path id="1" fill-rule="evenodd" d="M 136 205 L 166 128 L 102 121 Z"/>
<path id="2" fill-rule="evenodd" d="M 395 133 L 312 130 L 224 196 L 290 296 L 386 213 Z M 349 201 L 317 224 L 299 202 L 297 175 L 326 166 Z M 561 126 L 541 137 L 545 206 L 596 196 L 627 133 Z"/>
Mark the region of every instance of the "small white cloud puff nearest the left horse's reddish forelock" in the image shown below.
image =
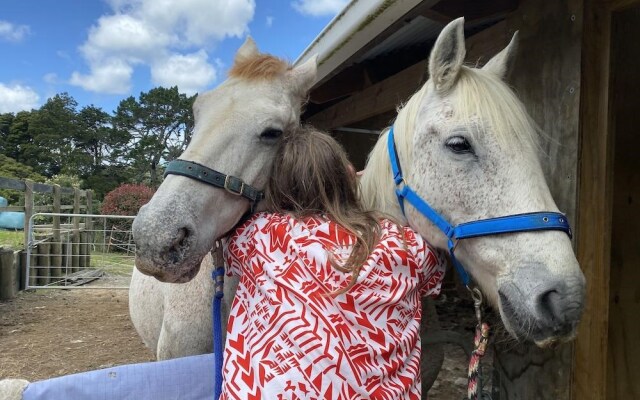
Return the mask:
<path id="1" fill-rule="evenodd" d="M 178 86 L 180 92 L 195 94 L 216 79 L 215 68 L 207 62 L 207 53 L 173 54 L 151 67 L 151 79 L 156 85 Z"/>

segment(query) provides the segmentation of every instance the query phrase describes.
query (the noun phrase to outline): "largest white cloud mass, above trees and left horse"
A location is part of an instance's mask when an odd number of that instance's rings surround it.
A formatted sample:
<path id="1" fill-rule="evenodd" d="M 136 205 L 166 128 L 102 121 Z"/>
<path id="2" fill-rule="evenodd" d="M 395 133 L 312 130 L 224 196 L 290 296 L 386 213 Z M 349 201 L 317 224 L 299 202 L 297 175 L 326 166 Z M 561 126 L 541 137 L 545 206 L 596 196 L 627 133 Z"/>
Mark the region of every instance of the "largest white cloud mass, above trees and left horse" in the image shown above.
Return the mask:
<path id="1" fill-rule="evenodd" d="M 205 48 L 242 37 L 255 0 L 108 0 L 112 15 L 98 19 L 80 47 L 89 73 L 71 84 L 99 93 L 126 94 L 137 67 L 149 67 L 155 84 L 196 92 L 213 83 L 216 68 Z"/>

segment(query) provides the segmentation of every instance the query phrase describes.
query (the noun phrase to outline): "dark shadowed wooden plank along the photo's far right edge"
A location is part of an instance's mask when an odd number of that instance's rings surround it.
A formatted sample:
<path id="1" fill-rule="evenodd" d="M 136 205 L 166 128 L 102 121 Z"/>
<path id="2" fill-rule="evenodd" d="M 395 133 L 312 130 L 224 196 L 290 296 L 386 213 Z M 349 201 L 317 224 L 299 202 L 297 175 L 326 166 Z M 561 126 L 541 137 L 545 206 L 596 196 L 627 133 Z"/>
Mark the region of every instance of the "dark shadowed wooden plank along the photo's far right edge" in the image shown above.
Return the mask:
<path id="1" fill-rule="evenodd" d="M 611 20 L 613 211 L 607 398 L 640 399 L 640 4 Z"/>

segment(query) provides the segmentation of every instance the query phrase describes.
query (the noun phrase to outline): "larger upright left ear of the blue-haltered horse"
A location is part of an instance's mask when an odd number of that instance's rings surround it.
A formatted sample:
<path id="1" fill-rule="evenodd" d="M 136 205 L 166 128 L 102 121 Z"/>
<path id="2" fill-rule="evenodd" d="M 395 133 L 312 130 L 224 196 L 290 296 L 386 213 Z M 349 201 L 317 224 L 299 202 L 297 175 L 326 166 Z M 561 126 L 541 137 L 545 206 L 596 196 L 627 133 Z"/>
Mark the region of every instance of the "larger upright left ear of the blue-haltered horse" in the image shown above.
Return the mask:
<path id="1" fill-rule="evenodd" d="M 464 47 L 464 17 L 444 27 L 429 57 L 429 76 L 438 92 L 451 89 L 467 53 Z"/>

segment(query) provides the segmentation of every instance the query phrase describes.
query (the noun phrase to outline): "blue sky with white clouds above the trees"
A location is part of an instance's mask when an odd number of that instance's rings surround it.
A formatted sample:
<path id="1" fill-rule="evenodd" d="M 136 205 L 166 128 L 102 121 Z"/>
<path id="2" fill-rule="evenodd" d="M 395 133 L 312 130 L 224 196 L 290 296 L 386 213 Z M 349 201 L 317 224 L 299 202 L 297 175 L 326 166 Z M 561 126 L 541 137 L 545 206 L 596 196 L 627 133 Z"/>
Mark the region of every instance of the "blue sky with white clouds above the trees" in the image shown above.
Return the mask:
<path id="1" fill-rule="evenodd" d="M 67 92 L 112 112 L 156 86 L 225 79 L 247 35 L 294 61 L 348 0 L 10 0 L 0 7 L 0 113 Z"/>

